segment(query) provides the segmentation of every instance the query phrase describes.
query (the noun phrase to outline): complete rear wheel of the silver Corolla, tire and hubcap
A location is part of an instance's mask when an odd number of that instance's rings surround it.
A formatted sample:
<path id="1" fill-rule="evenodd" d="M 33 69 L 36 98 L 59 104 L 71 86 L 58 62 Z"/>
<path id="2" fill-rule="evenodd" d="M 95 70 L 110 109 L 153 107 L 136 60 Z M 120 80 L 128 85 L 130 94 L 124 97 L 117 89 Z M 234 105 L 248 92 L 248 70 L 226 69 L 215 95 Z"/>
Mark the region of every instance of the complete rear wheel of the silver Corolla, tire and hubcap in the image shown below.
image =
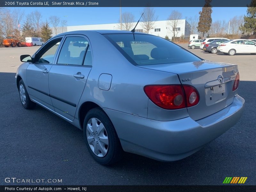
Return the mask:
<path id="1" fill-rule="evenodd" d="M 123 149 L 116 130 L 102 109 L 93 108 L 86 114 L 83 132 L 86 146 L 99 164 L 114 164 L 122 157 Z"/>

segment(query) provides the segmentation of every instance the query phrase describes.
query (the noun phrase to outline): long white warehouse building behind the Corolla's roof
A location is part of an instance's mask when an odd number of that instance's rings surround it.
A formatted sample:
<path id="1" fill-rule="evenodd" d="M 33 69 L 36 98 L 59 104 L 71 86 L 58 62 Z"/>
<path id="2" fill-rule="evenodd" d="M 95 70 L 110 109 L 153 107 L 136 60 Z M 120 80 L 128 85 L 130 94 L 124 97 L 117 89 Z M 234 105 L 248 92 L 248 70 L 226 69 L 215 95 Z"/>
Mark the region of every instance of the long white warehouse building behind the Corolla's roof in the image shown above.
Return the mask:
<path id="1" fill-rule="evenodd" d="M 154 28 L 149 30 L 149 34 L 165 37 L 168 36 L 169 39 L 172 39 L 173 32 L 172 27 L 168 24 L 170 20 L 164 20 L 164 21 L 155 21 Z M 138 32 L 145 32 L 145 30 L 142 27 L 142 22 L 139 22 L 136 31 Z M 136 25 L 136 22 L 133 23 L 133 27 Z M 79 26 L 67 26 L 67 28 L 62 29 L 63 32 L 66 31 L 76 31 L 76 30 L 120 30 L 119 23 L 111 23 L 111 24 L 99 24 L 99 25 L 79 25 Z M 189 38 L 190 35 L 190 24 L 187 20 L 177 20 L 177 25 L 175 29 L 175 35 L 177 37 L 184 36 L 185 38 Z M 53 36 L 56 35 L 54 30 Z M 57 30 L 57 34 L 61 33 L 60 28 Z"/>

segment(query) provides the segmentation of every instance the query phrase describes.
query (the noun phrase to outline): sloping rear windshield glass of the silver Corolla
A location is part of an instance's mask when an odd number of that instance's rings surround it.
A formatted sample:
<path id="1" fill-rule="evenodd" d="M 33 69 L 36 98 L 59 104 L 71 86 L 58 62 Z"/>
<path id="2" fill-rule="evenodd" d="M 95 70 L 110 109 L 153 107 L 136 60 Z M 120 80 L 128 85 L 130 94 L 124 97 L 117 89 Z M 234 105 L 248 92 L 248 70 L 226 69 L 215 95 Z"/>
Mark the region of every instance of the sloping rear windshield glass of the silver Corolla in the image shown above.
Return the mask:
<path id="1" fill-rule="evenodd" d="M 134 65 L 201 61 L 187 50 L 158 36 L 143 34 L 104 36 Z"/>

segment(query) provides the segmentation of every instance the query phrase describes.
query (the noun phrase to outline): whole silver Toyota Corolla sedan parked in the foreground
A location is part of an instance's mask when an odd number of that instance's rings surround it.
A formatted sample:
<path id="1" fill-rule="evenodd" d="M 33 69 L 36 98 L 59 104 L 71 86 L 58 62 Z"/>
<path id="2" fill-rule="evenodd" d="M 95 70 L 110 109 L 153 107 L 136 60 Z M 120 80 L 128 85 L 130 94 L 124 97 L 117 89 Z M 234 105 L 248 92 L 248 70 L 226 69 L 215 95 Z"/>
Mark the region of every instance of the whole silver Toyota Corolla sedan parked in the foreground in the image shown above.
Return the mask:
<path id="1" fill-rule="evenodd" d="M 236 65 L 202 60 L 153 35 L 67 32 L 20 59 L 22 106 L 39 104 L 82 129 L 100 164 L 123 151 L 185 158 L 236 124 L 244 106 Z"/>

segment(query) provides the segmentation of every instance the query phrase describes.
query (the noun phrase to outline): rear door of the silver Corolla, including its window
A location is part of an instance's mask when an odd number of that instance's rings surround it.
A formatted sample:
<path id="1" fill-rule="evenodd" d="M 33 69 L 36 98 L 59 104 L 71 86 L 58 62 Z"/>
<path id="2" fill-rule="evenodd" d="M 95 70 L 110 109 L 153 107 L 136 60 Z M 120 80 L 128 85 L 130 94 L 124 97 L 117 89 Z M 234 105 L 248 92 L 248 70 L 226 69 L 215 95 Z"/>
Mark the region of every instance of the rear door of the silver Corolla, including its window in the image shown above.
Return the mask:
<path id="1" fill-rule="evenodd" d="M 73 121 L 92 68 L 92 53 L 85 36 L 66 36 L 49 73 L 49 90 L 56 113 Z"/>

